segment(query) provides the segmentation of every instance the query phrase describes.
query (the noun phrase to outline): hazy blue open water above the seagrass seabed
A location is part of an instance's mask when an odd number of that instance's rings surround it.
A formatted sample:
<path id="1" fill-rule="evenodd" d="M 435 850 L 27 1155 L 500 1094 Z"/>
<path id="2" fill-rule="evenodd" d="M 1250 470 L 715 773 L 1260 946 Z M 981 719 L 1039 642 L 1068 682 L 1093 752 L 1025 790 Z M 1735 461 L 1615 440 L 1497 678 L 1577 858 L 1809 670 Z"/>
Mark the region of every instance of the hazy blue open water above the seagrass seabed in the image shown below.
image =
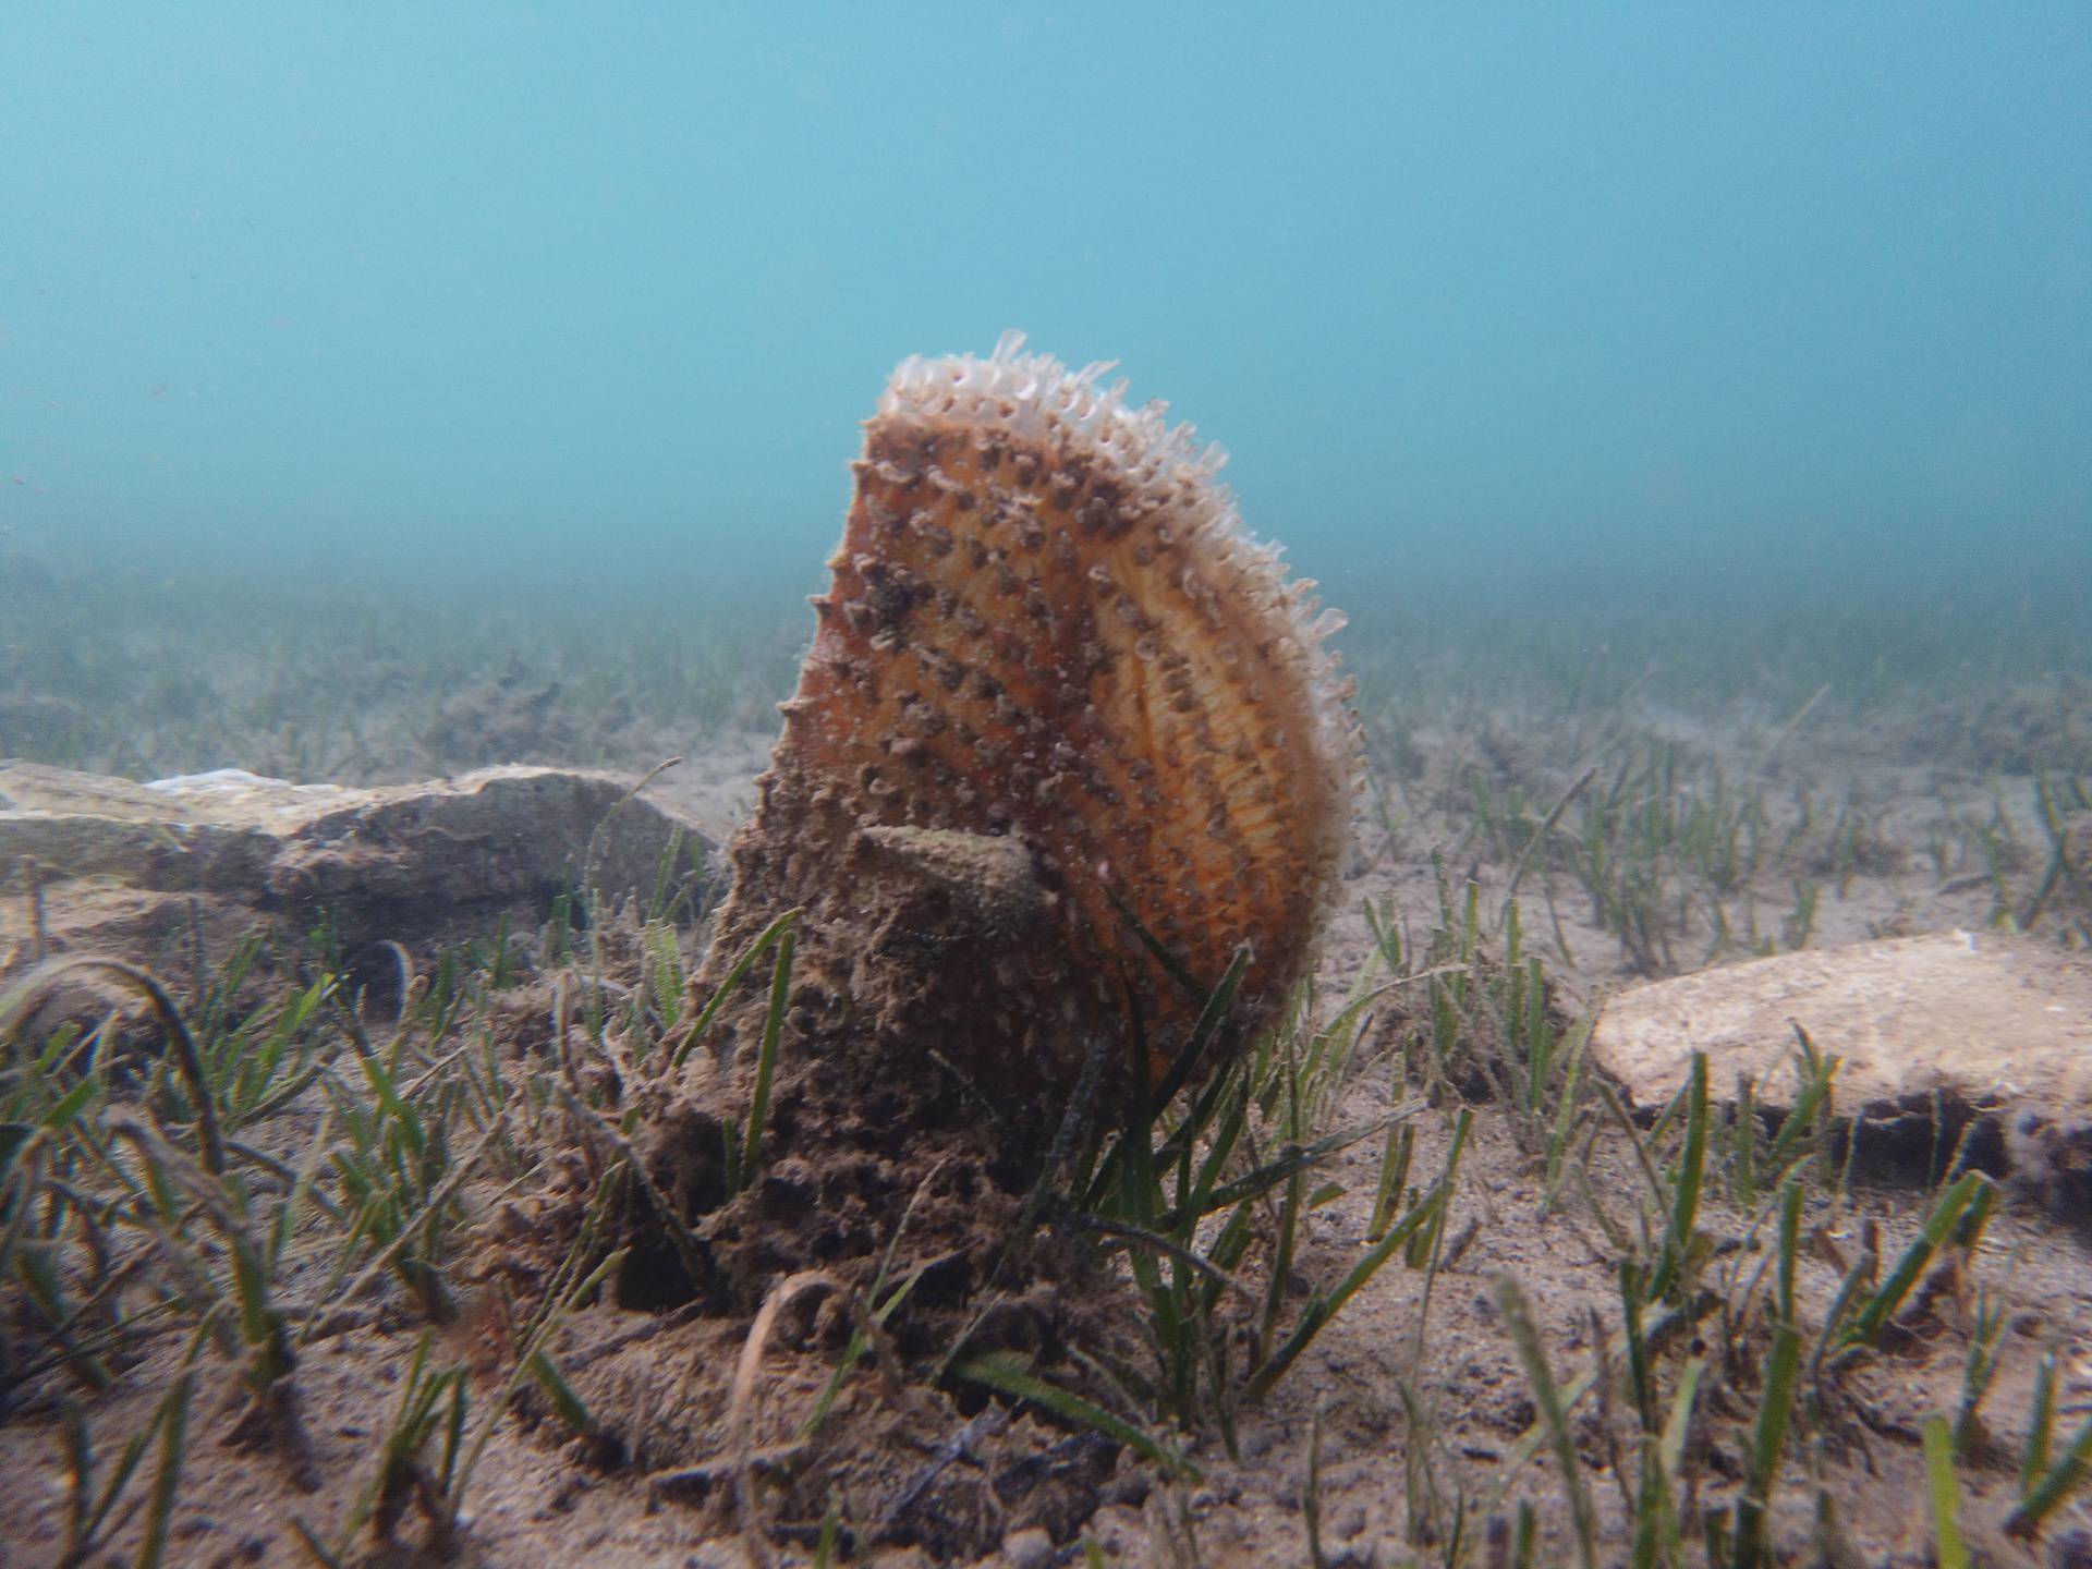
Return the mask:
<path id="1" fill-rule="evenodd" d="M 814 588 L 1006 326 L 1337 600 L 2092 573 L 2092 6 L 0 6 L 0 550 Z"/>

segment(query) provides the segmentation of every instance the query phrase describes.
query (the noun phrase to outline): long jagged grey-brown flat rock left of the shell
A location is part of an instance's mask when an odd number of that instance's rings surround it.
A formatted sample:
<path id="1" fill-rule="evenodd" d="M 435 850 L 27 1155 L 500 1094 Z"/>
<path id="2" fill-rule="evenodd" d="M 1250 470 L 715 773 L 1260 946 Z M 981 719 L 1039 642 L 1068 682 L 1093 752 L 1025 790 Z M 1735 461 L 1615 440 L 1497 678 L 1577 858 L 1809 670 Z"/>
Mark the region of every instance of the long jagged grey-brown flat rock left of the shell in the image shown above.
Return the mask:
<path id="1" fill-rule="evenodd" d="M 138 784 L 0 764 L 0 975 L 52 952 L 151 964 L 257 923 L 322 918 L 345 950 L 533 931 L 563 889 L 651 893 L 713 845 L 594 770 L 483 768 L 381 789 L 236 770 Z M 692 856 L 695 851 L 695 856 Z"/>

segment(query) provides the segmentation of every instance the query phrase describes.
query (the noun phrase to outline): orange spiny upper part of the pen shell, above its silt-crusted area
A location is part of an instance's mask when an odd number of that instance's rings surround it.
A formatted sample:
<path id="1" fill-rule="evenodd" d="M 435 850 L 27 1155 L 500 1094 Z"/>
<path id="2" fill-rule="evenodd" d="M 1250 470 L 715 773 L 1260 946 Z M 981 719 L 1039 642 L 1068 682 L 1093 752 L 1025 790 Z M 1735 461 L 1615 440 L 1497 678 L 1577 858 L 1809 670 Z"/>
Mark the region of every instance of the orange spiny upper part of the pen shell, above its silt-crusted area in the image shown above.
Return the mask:
<path id="1" fill-rule="evenodd" d="M 1251 1006 L 1301 977 L 1358 780 L 1341 617 L 1245 536 L 1218 448 L 1021 345 L 893 374 L 747 839 L 812 843 L 814 803 L 1019 837 L 1056 941 L 1033 1017 L 1123 1033 L 1132 987 L 1165 1054 L 1190 1008 L 1113 893 L 1203 983 L 1249 943 Z M 753 860 L 772 912 L 849 897 L 793 845 Z"/>

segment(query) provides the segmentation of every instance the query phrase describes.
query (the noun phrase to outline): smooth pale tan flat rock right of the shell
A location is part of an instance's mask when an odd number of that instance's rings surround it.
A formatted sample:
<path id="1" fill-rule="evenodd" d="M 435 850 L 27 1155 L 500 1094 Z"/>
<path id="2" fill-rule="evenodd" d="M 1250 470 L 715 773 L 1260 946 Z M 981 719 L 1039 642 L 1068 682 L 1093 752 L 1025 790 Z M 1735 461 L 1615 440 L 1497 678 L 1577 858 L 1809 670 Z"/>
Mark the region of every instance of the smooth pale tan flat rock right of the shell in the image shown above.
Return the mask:
<path id="1" fill-rule="evenodd" d="M 1950 931 L 1653 981 L 1605 1004 L 1594 1061 L 1638 1109 L 1667 1102 L 1707 1054 L 1766 1111 L 1795 1096 L 1795 1025 L 1839 1056 L 1839 1113 L 1996 1128 L 2027 1178 L 2069 1180 L 2092 1149 L 2092 958 L 2054 941 Z"/>

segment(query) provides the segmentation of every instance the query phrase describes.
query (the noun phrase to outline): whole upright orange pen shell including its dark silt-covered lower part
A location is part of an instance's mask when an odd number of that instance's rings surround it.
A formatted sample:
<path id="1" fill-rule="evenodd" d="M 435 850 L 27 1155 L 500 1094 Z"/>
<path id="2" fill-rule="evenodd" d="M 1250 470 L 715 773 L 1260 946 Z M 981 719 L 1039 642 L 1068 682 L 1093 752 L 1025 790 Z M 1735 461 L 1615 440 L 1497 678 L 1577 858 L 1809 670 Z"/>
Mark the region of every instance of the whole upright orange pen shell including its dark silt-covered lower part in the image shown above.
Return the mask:
<path id="1" fill-rule="evenodd" d="M 1107 370 L 1008 333 L 893 372 L 699 975 L 797 908 L 787 1050 L 960 1075 L 1033 1132 L 1092 1050 L 1123 1090 L 1134 1031 L 1151 1082 L 1184 1040 L 1146 937 L 1203 985 L 1247 943 L 1236 1019 L 1272 1015 L 1358 782 L 1343 617 L 1245 533 L 1220 448 Z"/>

